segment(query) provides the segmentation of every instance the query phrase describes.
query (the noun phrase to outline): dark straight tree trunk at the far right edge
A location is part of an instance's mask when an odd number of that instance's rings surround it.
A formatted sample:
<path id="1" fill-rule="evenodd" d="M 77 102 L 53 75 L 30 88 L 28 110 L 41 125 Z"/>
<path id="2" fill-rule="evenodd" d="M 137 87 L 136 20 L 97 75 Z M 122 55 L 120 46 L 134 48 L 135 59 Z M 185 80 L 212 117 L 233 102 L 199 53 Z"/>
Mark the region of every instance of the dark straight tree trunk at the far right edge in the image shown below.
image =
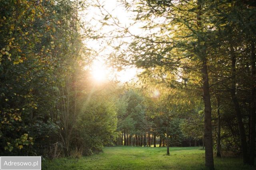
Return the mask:
<path id="1" fill-rule="evenodd" d="M 249 163 L 254 165 L 255 158 L 255 121 L 256 121 L 256 57 L 255 57 L 255 44 L 251 44 L 251 62 L 252 62 L 252 90 L 251 90 L 251 110 L 250 110 L 250 150 L 249 150 Z"/>

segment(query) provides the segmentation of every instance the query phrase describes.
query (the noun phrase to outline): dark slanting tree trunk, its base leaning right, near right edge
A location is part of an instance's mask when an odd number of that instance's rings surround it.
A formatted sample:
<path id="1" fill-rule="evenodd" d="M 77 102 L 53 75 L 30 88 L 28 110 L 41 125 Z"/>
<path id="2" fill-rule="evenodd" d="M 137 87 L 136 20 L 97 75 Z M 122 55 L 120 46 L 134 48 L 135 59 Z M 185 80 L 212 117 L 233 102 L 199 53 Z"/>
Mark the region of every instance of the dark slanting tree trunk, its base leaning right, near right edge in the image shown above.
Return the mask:
<path id="1" fill-rule="evenodd" d="M 242 148 L 242 154 L 243 154 L 243 162 L 244 164 L 248 164 L 248 151 L 247 151 L 247 143 L 246 143 L 246 135 L 244 130 L 244 123 L 242 120 L 242 113 L 241 109 L 236 97 L 236 56 L 234 55 L 234 48 L 231 47 L 232 51 L 232 88 L 230 89 L 230 95 L 235 107 L 236 111 L 236 119 L 238 122 L 238 129 L 240 134 L 240 142 L 241 142 L 241 148 Z"/>

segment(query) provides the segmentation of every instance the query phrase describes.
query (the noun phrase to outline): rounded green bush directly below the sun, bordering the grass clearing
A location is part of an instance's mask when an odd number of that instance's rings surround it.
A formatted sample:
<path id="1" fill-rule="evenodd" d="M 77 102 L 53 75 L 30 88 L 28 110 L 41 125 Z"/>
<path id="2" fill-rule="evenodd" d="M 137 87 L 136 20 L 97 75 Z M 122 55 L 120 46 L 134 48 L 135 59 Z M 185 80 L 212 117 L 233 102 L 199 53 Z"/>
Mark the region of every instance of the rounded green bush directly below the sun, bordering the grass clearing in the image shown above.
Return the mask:
<path id="1" fill-rule="evenodd" d="M 113 100 L 97 97 L 83 104 L 76 123 L 77 138 L 83 154 L 101 151 L 103 145 L 112 144 L 116 130 L 116 105 Z"/>

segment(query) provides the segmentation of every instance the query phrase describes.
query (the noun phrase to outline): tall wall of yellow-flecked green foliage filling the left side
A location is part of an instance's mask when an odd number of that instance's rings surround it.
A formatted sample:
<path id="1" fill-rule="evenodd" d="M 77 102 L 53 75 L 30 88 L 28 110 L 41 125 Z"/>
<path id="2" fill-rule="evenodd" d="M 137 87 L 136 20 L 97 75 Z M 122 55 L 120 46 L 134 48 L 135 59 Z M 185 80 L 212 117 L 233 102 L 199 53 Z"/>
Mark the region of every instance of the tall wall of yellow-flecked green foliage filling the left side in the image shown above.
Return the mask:
<path id="1" fill-rule="evenodd" d="M 88 99 L 80 97 L 91 90 L 84 82 L 88 77 L 84 67 L 92 55 L 82 43 L 85 37 L 78 18 L 85 1 L 1 4 L 0 153 L 56 157 L 69 156 L 77 147 L 101 150 L 114 138 L 116 110 L 113 102 L 101 101 L 94 107 L 96 99 L 86 104 Z M 91 129 L 78 129 L 91 118 L 98 120 L 86 125 Z M 76 143 L 88 135 L 89 145 Z"/>

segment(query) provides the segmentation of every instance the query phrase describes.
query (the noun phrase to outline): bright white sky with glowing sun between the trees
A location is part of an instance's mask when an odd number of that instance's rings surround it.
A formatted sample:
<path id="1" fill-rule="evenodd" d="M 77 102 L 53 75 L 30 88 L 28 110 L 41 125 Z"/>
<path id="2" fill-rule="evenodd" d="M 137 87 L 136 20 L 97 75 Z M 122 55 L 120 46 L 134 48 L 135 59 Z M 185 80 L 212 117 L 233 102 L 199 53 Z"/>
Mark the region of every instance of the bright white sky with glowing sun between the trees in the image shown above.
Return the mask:
<path id="1" fill-rule="evenodd" d="M 96 2 L 96 0 L 93 0 Z M 120 5 L 117 0 L 99 0 L 100 4 L 104 4 L 104 9 L 108 11 L 113 17 L 118 18 L 119 22 L 122 26 L 129 26 L 133 21 L 130 19 L 130 15 L 123 6 Z M 88 11 L 88 10 L 87 10 Z M 103 11 L 104 14 L 107 14 L 106 11 Z M 86 14 L 86 17 L 82 18 L 86 22 L 88 22 L 89 18 L 95 18 L 96 20 L 99 20 L 102 18 L 101 12 L 96 7 L 89 8 L 88 13 Z M 94 27 L 97 29 L 100 29 L 99 22 L 96 20 L 90 20 L 90 24 L 94 25 Z M 111 21 L 111 19 L 109 19 Z M 104 26 L 102 30 L 100 30 L 102 33 L 108 33 L 112 30 L 115 30 L 117 28 L 114 28 L 113 26 Z M 139 26 L 132 26 L 130 29 L 134 34 L 139 34 L 140 28 Z M 131 41 L 126 39 L 126 41 Z M 136 75 L 140 73 L 142 70 L 137 69 L 136 67 L 126 67 L 123 68 L 121 71 L 117 71 L 116 69 L 112 68 L 108 65 L 107 58 L 109 57 L 110 53 L 113 52 L 113 49 L 106 45 L 104 40 L 91 40 L 85 42 L 86 45 L 95 51 L 98 52 L 98 55 L 94 59 L 92 65 L 91 65 L 91 74 L 92 78 L 96 82 L 102 82 L 106 81 L 108 79 L 116 79 L 120 81 L 121 83 L 129 82 L 131 80 L 136 79 Z M 117 43 L 117 42 L 116 42 Z M 103 49 L 103 47 L 105 47 Z M 102 50 L 103 49 L 103 50 Z"/>

